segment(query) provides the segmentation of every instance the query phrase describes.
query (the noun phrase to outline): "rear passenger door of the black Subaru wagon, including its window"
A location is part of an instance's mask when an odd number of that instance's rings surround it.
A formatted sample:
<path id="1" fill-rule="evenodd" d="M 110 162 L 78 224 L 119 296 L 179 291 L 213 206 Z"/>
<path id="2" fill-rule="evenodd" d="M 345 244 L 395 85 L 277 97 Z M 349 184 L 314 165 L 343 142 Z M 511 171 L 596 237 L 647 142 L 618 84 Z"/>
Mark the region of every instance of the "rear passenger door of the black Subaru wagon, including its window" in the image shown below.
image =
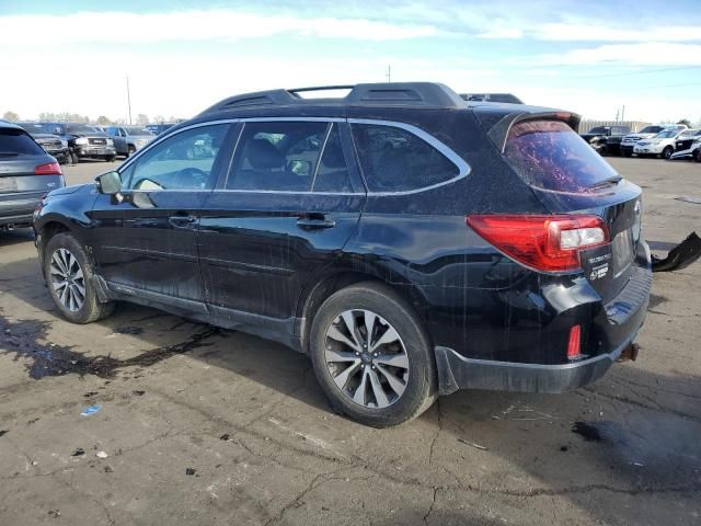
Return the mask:
<path id="1" fill-rule="evenodd" d="M 343 119 L 240 126 L 231 169 L 200 221 L 208 307 L 234 323 L 291 320 L 356 228 L 365 191 Z"/>

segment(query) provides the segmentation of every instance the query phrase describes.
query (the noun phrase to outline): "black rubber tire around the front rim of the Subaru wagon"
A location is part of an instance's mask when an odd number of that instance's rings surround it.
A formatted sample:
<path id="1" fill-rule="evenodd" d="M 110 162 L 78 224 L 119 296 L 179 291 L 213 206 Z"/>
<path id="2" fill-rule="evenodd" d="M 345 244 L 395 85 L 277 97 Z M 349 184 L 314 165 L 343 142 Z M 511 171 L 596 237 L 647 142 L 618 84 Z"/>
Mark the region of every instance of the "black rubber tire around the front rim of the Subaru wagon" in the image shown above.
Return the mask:
<path id="1" fill-rule="evenodd" d="M 57 293 L 54 286 L 54 278 L 56 277 L 56 275 L 51 270 L 53 258 L 59 249 L 67 250 L 78 261 L 80 270 L 82 271 L 84 300 L 82 302 L 82 306 L 77 310 L 71 310 L 66 307 L 66 305 L 64 305 L 59 297 L 59 293 Z M 54 304 L 58 308 L 61 316 L 68 321 L 81 324 L 92 323 L 93 321 L 106 318 L 114 311 L 114 302 L 110 301 L 103 304 L 97 298 L 97 293 L 93 285 L 93 265 L 85 254 L 82 245 L 76 240 L 72 235 L 68 232 L 61 232 L 49 239 L 44 251 L 44 277 L 48 285 L 49 294 L 51 295 Z"/>

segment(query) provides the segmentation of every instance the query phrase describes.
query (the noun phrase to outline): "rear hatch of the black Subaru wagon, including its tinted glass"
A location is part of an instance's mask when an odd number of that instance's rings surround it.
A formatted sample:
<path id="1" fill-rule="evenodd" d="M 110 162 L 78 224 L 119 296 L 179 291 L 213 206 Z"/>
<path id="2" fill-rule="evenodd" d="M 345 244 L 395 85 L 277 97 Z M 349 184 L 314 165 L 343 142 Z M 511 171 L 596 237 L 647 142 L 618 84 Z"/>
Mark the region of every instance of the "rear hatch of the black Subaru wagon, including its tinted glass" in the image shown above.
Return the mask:
<path id="1" fill-rule="evenodd" d="M 610 242 L 583 250 L 581 264 L 605 301 L 616 297 L 634 272 L 641 242 L 641 188 L 619 175 L 561 121 L 516 123 L 504 155 L 550 213 L 604 219 Z"/>

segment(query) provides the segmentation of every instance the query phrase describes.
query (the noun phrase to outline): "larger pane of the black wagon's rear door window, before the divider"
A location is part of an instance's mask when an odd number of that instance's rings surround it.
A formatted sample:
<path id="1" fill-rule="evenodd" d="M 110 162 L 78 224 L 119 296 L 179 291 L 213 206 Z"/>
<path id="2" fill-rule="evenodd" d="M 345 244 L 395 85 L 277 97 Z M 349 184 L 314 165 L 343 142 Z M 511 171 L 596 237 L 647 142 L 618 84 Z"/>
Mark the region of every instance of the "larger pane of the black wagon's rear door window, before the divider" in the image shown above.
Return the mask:
<path id="1" fill-rule="evenodd" d="M 311 190 L 329 132 L 324 122 L 245 123 L 228 190 Z"/>

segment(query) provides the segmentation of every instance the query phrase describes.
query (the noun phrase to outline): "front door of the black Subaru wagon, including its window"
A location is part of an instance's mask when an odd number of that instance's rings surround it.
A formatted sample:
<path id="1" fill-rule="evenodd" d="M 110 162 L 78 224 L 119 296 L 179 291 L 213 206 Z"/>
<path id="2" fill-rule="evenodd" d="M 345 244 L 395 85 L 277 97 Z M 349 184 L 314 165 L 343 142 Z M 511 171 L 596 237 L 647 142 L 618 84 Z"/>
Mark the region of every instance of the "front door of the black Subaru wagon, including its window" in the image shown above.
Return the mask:
<path id="1" fill-rule="evenodd" d="M 122 171 L 119 196 L 99 196 L 92 219 L 102 243 L 94 244 L 111 289 L 204 308 L 197 228 L 230 155 L 228 129 L 195 127 L 154 145 Z"/>

